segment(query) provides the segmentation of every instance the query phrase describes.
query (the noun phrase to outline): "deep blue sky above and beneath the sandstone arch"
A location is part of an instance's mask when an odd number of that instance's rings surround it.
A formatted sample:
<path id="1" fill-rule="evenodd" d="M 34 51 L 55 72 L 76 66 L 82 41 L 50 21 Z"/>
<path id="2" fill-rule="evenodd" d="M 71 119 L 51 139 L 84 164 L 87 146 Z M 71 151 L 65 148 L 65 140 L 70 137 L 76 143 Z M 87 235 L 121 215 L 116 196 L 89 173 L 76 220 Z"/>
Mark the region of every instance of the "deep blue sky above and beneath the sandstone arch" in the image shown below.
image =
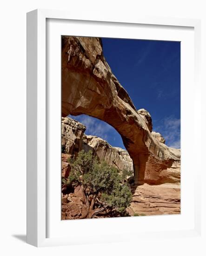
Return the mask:
<path id="1" fill-rule="evenodd" d="M 113 74 L 137 109 L 152 116 L 153 130 L 169 147 L 180 148 L 180 42 L 103 38 L 103 53 Z M 107 123 L 86 115 L 73 117 L 114 147 L 125 148 Z"/>

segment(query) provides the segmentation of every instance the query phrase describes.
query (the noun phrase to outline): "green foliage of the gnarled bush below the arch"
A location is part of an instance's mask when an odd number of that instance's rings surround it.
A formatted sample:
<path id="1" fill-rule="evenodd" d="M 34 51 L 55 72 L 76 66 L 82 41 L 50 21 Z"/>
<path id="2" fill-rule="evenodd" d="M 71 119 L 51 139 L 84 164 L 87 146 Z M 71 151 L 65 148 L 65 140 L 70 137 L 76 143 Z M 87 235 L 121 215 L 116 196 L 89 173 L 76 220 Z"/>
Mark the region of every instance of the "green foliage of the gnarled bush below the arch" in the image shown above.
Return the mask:
<path id="1" fill-rule="evenodd" d="M 83 150 L 70 165 L 72 170 L 67 184 L 81 185 L 86 196 L 93 195 L 97 199 L 96 204 L 124 213 L 132 201 L 132 193 L 127 184 L 122 184 L 122 176 L 117 168 L 106 162 L 99 163 L 92 151 L 85 153 Z M 127 172 L 124 173 L 127 175 Z"/>

